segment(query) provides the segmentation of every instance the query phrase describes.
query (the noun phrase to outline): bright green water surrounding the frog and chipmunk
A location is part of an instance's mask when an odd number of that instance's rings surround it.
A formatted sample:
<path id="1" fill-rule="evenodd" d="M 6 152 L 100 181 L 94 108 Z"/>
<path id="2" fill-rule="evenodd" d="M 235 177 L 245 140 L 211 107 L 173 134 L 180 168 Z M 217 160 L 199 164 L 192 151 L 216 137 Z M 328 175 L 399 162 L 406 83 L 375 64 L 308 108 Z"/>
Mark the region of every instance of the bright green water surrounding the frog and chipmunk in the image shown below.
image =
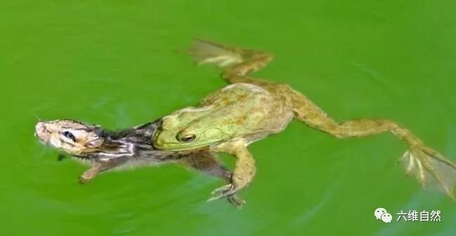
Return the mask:
<path id="1" fill-rule="evenodd" d="M 455 235 L 455 203 L 420 190 L 390 134 L 339 140 L 293 122 L 252 144 L 245 209 L 206 203 L 222 183 L 174 166 L 98 176 L 33 137 L 41 119 L 122 128 L 224 83 L 181 50 L 202 37 L 275 54 L 257 73 L 337 120 L 391 118 L 456 160 L 456 4 L 450 1 L 0 3 L 2 235 Z M 233 159 L 223 156 L 233 165 Z M 393 223 L 374 220 L 385 207 Z M 441 223 L 396 212 L 442 211 Z"/>

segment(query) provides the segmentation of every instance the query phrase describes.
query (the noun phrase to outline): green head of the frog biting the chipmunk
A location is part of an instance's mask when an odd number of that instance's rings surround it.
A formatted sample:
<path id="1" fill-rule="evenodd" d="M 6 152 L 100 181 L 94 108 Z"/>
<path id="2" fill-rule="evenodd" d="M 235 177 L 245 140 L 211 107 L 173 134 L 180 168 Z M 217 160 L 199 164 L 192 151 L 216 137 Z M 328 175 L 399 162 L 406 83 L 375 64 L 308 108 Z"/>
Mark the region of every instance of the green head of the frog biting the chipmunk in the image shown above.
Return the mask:
<path id="1" fill-rule="evenodd" d="M 230 139 L 223 128 L 205 122 L 207 119 L 188 120 L 185 116 L 166 116 L 153 144 L 162 150 L 181 151 L 216 144 Z"/>

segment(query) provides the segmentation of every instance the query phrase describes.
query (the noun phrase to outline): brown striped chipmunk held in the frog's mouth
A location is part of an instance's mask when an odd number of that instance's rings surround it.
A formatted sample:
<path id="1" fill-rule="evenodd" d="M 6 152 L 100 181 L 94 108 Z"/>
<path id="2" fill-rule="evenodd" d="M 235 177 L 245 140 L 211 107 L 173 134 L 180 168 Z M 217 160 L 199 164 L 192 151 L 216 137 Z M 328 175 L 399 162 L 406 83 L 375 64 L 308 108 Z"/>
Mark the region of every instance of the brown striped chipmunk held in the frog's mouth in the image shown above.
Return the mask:
<path id="1" fill-rule="evenodd" d="M 217 160 L 209 148 L 190 151 L 160 151 L 154 148 L 152 136 L 161 122 L 159 119 L 125 130 L 110 131 L 100 125 L 88 125 L 77 120 L 39 121 L 35 127 L 35 136 L 42 144 L 57 148 L 91 166 L 79 176 L 81 184 L 88 183 L 97 174 L 110 169 L 164 163 L 182 164 L 231 182 L 232 172 Z M 245 204 L 235 194 L 227 199 L 236 207 Z"/>

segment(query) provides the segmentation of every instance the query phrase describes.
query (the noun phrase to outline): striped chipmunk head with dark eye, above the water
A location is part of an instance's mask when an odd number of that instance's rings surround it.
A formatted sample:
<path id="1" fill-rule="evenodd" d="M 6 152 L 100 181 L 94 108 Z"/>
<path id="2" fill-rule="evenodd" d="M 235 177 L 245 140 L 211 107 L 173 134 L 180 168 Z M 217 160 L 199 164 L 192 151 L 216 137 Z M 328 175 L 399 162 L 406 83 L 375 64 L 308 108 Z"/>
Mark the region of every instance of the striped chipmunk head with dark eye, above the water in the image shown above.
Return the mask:
<path id="1" fill-rule="evenodd" d="M 47 145 L 70 155 L 82 155 L 96 151 L 105 139 L 100 137 L 100 128 L 75 120 L 40 121 L 35 126 L 35 135 Z"/>

